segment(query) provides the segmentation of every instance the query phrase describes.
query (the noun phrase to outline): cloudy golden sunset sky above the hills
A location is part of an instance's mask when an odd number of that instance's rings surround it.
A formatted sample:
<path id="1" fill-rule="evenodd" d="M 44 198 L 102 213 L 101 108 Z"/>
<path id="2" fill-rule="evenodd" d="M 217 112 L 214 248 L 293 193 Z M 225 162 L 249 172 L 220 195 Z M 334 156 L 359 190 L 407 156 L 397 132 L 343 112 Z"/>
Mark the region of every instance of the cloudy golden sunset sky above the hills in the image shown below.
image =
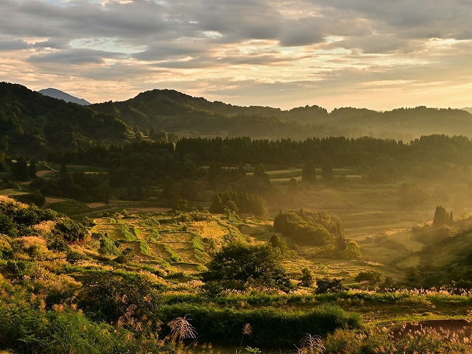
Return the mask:
<path id="1" fill-rule="evenodd" d="M 472 0 L 0 0 L 0 81 L 291 109 L 472 106 Z"/>

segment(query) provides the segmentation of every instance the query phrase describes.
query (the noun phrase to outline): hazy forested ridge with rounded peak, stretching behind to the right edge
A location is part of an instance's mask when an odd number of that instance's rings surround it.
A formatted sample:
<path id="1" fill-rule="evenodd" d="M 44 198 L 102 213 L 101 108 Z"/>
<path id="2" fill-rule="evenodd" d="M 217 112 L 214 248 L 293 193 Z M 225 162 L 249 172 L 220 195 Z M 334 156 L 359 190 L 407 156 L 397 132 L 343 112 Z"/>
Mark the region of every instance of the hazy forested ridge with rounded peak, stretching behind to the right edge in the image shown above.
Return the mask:
<path id="1" fill-rule="evenodd" d="M 263 106 L 209 102 L 174 90 L 142 92 L 125 102 L 105 102 L 92 109 L 113 114 L 141 130 L 155 128 L 179 135 L 230 135 L 294 138 L 373 135 L 409 140 L 421 135 L 472 137 L 472 114 L 459 109 L 394 109 L 378 112 L 343 107 L 328 113 L 320 106 L 282 111 Z"/>

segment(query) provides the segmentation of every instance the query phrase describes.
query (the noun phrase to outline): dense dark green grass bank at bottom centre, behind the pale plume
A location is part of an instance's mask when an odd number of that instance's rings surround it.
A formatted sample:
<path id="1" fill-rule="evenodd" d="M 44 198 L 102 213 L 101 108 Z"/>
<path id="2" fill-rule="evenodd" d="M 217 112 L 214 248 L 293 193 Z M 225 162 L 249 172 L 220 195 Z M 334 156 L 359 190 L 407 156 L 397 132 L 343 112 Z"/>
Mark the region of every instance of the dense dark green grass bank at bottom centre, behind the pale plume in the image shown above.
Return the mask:
<path id="1" fill-rule="evenodd" d="M 187 315 L 193 319 L 195 330 L 202 341 L 220 341 L 237 345 L 241 328 L 250 323 L 252 334 L 247 343 L 259 346 L 290 346 L 306 333 L 325 335 L 338 328 L 356 328 L 361 318 L 336 305 L 324 304 L 312 310 L 279 310 L 263 307 L 254 310 L 216 308 L 209 305 L 167 305 L 156 310 L 163 322 Z"/>

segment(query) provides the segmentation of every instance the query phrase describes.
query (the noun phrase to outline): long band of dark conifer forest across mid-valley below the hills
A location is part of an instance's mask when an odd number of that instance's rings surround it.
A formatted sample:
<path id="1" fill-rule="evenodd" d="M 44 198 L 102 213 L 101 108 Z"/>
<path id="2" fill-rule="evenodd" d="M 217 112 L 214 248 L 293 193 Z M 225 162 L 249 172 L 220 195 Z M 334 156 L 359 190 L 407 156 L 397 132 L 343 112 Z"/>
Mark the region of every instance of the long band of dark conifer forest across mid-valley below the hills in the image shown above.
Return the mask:
<path id="1" fill-rule="evenodd" d="M 238 176 L 241 177 L 239 184 L 244 186 L 250 178 L 243 176 L 241 167 L 223 169 L 222 166 L 259 166 L 261 163 L 304 166 L 304 179 L 307 181 L 314 180 L 316 166 L 321 166 L 321 176 L 328 179 L 333 178 L 333 168 L 352 167 L 365 171 L 367 181 L 381 183 L 401 174 L 433 178 L 453 169 L 454 176 L 470 178 L 470 171 L 467 173 L 461 166 L 472 164 L 472 142 L 465 137 L 446 135 L 423 136 L 408 145 L 402 141 L 368 137 L 310 138 L 304 141 L 182 138 L 175 144 L 142 141 L 122 146 L 93 145 L 76 151 L 51 151 L 48 159 L 111 168 L 112 188 L 137 185 L 144 188 L 161 183 L 167 176 L 180 181 L 205 174 L 209 176 L 211 188 L 222 178 L 234 181 Z M 204 165 L 209 166 L 208 171 L 201 169 L 200 166 Z M 260 177 L 260 186 L 263 187 L 268 178 L 258 172 L 256 169 L 254 176 Z"/>

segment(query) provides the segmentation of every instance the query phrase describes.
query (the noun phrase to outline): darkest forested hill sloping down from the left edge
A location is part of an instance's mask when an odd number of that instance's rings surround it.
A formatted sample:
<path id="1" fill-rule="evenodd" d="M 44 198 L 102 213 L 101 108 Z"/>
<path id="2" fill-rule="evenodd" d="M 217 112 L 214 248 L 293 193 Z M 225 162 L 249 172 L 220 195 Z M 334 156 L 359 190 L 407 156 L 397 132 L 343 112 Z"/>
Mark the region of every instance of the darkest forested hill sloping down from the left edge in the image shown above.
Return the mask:
<path id="1" fill-rule="evenodd" d="M 45 157 L 49 148 L 121 143 L 129 134 L 130 128 L 111 115 L 0 83 L 0 149 L 12 156 Z"/>

